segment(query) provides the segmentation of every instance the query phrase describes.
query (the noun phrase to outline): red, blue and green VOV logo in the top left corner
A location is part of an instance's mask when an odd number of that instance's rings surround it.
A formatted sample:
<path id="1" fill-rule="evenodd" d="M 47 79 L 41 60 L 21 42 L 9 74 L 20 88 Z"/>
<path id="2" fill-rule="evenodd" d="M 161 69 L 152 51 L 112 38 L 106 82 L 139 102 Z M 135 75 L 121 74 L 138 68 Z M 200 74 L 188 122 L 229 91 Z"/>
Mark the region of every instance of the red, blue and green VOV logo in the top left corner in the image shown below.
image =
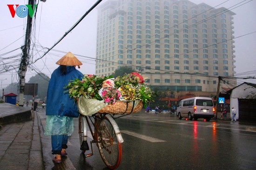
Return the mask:
<path id="1" fill-rule="evenodd" d="M 34 9 L 32 9 L 32 5 L 15 5 L 16 8 L 14 10 L 14 5 L 7 5 L 9 7 L 10 13 L 12 17 L 14 18 L 15 13 L 18 17 L 24 18 L 29 14 L 30 18 L 34 15 L 34 10 L 37 5 L 34 5 Z"/>

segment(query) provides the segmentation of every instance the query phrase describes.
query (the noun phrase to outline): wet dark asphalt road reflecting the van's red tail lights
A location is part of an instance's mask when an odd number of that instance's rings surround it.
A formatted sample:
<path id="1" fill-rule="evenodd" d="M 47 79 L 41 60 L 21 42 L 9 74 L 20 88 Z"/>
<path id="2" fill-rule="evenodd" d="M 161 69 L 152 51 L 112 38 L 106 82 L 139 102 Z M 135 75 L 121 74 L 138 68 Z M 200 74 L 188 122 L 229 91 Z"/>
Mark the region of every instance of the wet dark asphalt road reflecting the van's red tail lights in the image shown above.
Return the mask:
<path id="1" fill-rule="evenodd" d="M 44 126 L 43 113 L 38 114 Z M 144 112 L 124 116 L 116 122 L 124 139 L 118 170 L 253 170 L 256 167 L 256 124 L 187 121 L 174 115 Z M 77 132 L 78 119 L 75 119 L 74 134 L 67 148 L 74 168 L 108 170 L 95 144 L 94 156 L 83 157 Z M 43 137 L 42 141 L 47 145 L 44 157 L 51 161 L 50 139 Z M 49 163 L 49 168 L 53 166 Z"/>

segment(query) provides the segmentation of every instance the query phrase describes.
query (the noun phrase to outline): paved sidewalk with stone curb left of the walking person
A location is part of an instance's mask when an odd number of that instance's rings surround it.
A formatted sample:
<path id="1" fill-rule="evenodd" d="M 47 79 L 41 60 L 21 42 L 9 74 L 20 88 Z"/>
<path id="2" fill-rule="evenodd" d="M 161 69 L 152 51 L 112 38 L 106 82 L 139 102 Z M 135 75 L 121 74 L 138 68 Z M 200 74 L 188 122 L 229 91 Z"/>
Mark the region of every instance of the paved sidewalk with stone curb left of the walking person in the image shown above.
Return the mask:
<path id="1" fill-rule="evenodd" d="M 23 112 L 24 108 L 14 105 L 13 110 L 4 112 L 2 108 L 6 106 L 0 104 L 0 117 L 9 117 L 0 127 L 0 170 L 44 170 L 37 116 L 30 114 L 31 119 L 27 121 L 8 124 L 12 114 L 21 112 L 26 119 L 28 114 Z"/>

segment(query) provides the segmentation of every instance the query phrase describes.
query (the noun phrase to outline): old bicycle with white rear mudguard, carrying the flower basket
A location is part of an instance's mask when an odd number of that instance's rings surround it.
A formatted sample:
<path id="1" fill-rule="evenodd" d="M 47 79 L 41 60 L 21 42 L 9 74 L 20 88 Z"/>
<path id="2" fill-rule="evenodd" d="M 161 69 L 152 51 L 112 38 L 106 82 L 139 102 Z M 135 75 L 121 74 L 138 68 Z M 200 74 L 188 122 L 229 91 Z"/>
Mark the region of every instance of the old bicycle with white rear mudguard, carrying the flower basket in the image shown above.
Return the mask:
<path id="1" fill-rule="evenodd" d="M 94 126 L 94 130 L 92 129 L 90 123 L 92 123 L 92 125 Z M 85 157 L 90 157 L 94 155 L 92 144 L 96 143 L 103 162 L 107 165 L 109 169 L 116 169 L 121 162 L 121 143 L 124 140 L 121 136 L 119 127 L 114 120 L 114 115 L 108 113 L 95 113 L 91 116 L 85 116 L 80 114 L 80 145 L 82 145 L 83 141 L 87 141 L 87 125 L 92 134 L 93 140 L 90 142 L 91 153 L 86 154 Z M 82 150 L 82 153 L 85 153 L 85 151 L 86 150 Z"/>

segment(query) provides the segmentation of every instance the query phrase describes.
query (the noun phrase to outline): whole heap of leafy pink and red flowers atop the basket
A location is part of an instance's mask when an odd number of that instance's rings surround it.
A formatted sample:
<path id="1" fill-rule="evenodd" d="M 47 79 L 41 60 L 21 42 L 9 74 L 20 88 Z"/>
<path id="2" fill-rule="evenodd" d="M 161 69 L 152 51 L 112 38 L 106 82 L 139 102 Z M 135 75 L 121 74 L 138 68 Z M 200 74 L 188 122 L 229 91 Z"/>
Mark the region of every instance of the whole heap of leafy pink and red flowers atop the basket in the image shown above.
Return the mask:
<path id="1" fill-rule="evenodd" d="M 67 88 L 66 92 L 74 98 L 74 101 L 80 96 L 104 100 L 109 104 L 115 104 L 118 100 L 127 102 L 141 100 L 145 108 L 149 101 L 153 101 L 152 92 L 140 74 L 134 72 L 117 76 L 114 81 L 111 79 L 113 76 L 85 75 L 82 80 L 71 80 L 64 88 Z"/>

